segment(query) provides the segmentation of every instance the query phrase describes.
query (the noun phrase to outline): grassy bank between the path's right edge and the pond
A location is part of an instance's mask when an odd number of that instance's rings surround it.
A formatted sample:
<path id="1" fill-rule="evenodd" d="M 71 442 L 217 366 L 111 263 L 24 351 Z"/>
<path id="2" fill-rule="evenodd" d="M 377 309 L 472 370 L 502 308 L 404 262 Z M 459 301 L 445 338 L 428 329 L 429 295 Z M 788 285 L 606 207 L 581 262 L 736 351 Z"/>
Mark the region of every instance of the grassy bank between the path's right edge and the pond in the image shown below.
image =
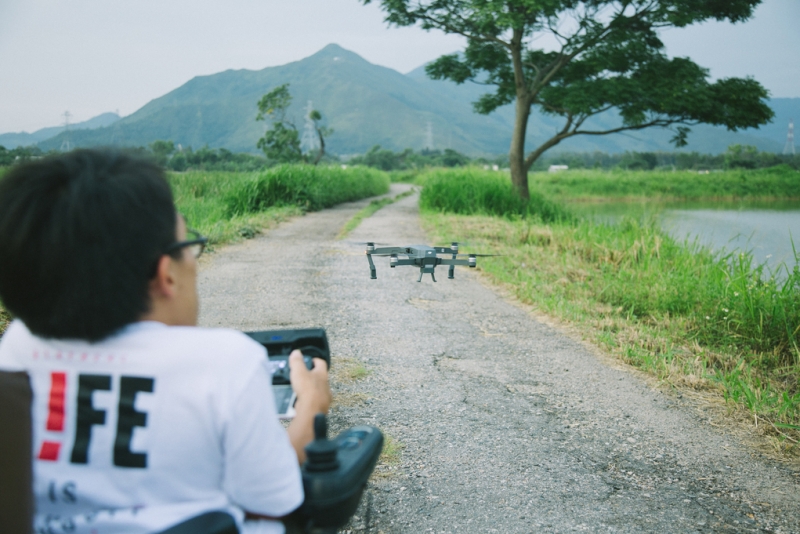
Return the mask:
<path id="1" fill-rule="evenodd" d="M 779 446 L 800 441 L 797 267 L 771 273 L 748 253 L 675 240 L 654 221 L 443 211 L 423 210 L 431 238 L 501 254 L 479 268 L 522 302 L 669 383 L 717 392 Z"/>

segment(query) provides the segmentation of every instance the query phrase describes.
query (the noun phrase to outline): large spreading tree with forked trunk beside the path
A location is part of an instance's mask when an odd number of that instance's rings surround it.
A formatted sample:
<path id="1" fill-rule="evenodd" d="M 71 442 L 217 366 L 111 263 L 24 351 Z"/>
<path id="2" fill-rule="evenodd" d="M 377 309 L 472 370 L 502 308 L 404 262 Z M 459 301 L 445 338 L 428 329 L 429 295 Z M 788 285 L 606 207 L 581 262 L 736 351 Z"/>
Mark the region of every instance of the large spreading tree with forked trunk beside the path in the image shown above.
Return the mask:
<path id="1" fill-rule="evenodd" d="M 362 0 L 365 4 L 372 0 Z M 692 125 L 755 127 L 772 118 L 767 91 L 755 80 L 708 81 L 688 58 L 668 58 L 658 31 L 709 19 L 741 22 L 761 0 L 381 0 L 386 21 L 419 23 L 466 37 L 461 54 L 426 67 L 434 79 L 495 86 L 474 103 L 488 114 L 515 103 L 509 166 L 519 195 L 528 198 L 528 170 L 548 149 L 575 135 L 669 127 L 685 146 Z M 542 37 L 554 40 L 552 50 Z M 538 45 L 538 47 L 537 47 Z M 552 137 L 526 155 L 531 110 L 563 119 Z M 621 124 L 591 126 L 591 117 L 616 111 Z M 588 122 L 587 122 L 588 121 Z"/>

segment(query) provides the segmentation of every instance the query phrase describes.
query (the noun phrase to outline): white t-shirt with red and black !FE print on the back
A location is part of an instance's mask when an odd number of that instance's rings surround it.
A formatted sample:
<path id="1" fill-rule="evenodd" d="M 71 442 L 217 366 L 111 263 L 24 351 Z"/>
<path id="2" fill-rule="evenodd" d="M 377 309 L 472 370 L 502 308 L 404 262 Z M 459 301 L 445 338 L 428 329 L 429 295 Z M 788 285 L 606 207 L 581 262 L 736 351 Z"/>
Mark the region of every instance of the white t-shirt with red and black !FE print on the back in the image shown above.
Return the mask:
<path id="1" fill-rule="evenodd" d="M 240 332 L 143 322 L 90 344 L 17 320 L 0 369 L 31 377 L 36 532 L 157 532 L 212 510 L 241 530 L 243 510 L 303 501 L 266 352 Z"/>

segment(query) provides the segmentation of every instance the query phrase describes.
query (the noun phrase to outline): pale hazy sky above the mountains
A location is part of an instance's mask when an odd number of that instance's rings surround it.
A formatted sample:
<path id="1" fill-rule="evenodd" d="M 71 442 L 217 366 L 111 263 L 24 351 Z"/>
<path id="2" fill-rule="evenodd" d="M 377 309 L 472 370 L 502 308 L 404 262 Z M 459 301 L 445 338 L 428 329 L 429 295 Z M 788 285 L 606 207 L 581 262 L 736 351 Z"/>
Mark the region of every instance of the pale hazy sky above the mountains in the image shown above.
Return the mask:
<path id="1" fill-rule="evenodd" d="M 753 76 L 800 97 L 800 0 L 764 0 L 745 24 L 663 35 L 713 77 Z M 408 72 L 463 41 L 387 28 L 358 0 L 0 0 L 0 133 L 133 113 L 194 76 L 296 61 L 329 43 Z"/>

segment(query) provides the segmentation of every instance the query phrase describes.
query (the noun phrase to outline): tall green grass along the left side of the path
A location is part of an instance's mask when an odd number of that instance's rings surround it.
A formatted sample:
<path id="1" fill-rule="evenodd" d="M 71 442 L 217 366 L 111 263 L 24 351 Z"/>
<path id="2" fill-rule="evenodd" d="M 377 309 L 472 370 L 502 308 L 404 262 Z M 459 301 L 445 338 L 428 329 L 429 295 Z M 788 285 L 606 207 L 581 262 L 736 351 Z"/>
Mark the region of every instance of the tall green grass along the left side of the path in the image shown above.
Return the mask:
<path id="1" fill-rule="evenodd" d="M 212 245 L 250 238 L 304 211 L 389 190 L 386 173 L 363 167 L 284 165 L 261 173 L 171 173 L 175 203 Z"/>

